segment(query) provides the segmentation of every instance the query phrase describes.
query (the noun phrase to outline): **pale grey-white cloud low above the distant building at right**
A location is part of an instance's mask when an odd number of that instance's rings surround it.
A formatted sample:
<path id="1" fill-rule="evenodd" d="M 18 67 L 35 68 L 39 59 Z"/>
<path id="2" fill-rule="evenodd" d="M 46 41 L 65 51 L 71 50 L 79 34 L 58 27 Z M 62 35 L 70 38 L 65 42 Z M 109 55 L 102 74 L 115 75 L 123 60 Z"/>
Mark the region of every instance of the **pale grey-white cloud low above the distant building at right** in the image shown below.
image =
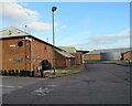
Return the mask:
<path id="1" fill-rule="evenodd" d="M 98 50 L 130 46 L 130 29 L 110 35 L 89 35 L 87 42 L 74 44 L 77 49 Z"/>

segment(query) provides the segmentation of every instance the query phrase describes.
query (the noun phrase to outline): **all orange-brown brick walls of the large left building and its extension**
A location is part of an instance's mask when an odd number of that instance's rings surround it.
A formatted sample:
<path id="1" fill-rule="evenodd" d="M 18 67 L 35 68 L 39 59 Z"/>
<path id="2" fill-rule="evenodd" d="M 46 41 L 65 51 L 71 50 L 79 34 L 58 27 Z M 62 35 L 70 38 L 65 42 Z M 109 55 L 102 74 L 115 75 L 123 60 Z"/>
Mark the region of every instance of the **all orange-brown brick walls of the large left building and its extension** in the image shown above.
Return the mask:
<path id="1" fill-rule="evenodd" d="M 19 41 L 23 42 L 23 46 L 18 46 Z M 33 68 L 37 71 L 42 60 L 48 60 L 50 63 L 53 63 L 53 47 L 36 39 L 33 39 L 32 44 L 31 41 L 24 40 L 24 38 L 2 40 L 0 42 L 2 42 L 2 52 L 0 52 L 2 54 L 0 56 L 0 60 L 2 60 L 1 70 L 31 71 Z M 18 62 L 16 57 L 21 57 L 22 61 Z M 73 64 L 72 60 L 69 61 L 69 59 L 58 53 L 55 53 L 55 57 L 56 67 L 66 67 Z"/>

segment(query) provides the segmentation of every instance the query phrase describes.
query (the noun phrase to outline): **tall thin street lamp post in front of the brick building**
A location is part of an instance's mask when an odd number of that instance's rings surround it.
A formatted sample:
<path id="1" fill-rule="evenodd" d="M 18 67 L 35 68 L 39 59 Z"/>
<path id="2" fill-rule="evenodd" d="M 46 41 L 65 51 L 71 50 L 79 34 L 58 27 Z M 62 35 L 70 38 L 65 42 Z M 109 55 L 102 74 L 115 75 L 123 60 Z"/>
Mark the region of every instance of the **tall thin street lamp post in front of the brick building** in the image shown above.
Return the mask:
<path id="1" fill-rule="evenodd" d="M 55 75 L 55 34 L 54 34 L 54 11 L 56 11 L 57 7 L 52 7 L 52 18 L 53 18 L 53 70 L 54 70 L 54 75 Z"/>

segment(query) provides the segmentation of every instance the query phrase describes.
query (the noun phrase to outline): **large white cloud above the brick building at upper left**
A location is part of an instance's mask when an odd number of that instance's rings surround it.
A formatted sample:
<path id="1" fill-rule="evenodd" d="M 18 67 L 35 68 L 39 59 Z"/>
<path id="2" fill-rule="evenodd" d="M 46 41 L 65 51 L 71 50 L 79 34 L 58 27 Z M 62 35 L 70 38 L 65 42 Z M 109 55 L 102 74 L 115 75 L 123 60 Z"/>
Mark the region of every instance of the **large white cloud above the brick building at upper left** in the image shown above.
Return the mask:
<path id="1" fill-rule="evenodd" d="M 24 8 L 22 4 L 16 2 L 16 0 L 7 0 L 8 2 L 2 2 L 0 9 L 2 10 L 3 22 L 8 25 L 13 25 L 16 28 L 23 28 L 28 25 L 29 29 L 35 31 L 44 31 L 51 29 L 51 23 L 40 22 L 40 14 L 35 10 Z"/>

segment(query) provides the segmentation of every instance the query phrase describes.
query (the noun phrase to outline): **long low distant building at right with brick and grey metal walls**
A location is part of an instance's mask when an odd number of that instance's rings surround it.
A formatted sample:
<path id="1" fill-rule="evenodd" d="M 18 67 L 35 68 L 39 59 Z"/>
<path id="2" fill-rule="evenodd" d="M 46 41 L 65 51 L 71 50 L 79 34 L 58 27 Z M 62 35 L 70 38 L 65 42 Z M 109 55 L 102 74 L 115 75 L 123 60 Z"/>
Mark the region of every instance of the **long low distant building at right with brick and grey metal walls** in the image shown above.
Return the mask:
<path id="1" fill-rule="evenodd" d="M 94 50 L 84 55 L 84 61 L 132 60 L 132 56 L 130 55 L 132 55 L 132 52 L 130 52 L 130 47 Z"/>

